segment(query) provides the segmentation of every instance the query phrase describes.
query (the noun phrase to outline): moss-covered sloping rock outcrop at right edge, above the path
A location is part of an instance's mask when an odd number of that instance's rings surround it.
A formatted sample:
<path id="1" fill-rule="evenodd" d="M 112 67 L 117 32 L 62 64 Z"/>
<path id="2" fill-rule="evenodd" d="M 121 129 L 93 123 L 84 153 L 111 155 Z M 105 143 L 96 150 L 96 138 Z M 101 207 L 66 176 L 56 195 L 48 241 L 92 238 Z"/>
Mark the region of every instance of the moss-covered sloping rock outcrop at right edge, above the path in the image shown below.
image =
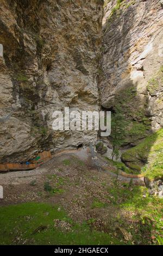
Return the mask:
<path id="1" fill-rule="evenodd" d="M 163 178 L 163 129 L 153 133 L 142 143 L 122 154 L 124 162 L 142 166 L 142 172 L 153 180 Z M 130 165 L 131 167 L 131 165 Z"/>

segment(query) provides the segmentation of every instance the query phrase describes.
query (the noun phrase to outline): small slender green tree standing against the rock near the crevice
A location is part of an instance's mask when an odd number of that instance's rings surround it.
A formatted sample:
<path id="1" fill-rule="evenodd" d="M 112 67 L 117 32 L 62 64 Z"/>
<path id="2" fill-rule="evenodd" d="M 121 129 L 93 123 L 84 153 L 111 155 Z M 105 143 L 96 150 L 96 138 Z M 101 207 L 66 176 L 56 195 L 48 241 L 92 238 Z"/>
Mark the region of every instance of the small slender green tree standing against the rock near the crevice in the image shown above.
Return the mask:
<path id="1" fill-rule="evenodd" d="M 112 160 L 114 157 L 116 157 L 116 161 L 118 159 L 119 149 L 125 141 L 127 124 L 128 122 L 125 120 L 121 107 L 116 106 L 115 113 L 112 113 L 111 117 Z"/>

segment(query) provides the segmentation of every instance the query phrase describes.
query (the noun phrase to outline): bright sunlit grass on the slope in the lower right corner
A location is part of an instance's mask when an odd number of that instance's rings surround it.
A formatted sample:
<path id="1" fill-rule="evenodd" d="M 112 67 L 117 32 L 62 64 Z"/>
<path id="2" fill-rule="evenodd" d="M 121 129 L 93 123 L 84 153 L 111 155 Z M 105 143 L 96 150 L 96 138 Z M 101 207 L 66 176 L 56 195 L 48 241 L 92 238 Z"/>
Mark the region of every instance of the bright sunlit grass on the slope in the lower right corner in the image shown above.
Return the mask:
<path id="1" fill-rule="evenodd" d="M 127 212 L 133 223 L 128 225 L 121 215 L 120 220 L 115 220 L 121 227 L 127 229 L 133 235 L 133 240 L 141 244 L 154 243 L 162 245 L 163 225 L 163 199 L 149 196 L 148 190 L 141 186 L 123 186 L 115 184 L 108 187 L 109 200 L 112 205 Z M 152 236 L 155 240 L 152 241 Z"/>

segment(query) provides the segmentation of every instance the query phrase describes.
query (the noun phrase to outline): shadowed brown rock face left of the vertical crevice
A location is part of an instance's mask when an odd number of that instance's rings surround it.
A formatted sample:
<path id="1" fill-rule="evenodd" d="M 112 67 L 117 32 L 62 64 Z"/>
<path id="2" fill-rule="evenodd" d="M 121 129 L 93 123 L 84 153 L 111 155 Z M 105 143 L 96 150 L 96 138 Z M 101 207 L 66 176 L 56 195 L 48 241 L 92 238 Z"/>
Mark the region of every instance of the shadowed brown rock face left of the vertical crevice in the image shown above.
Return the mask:
<path id="1" fill-rule="evenodd" d="M 98 109 L 101 0 L 1 0 L 0 161 L 95 141 L 52 131 L 52 113 Z"/>

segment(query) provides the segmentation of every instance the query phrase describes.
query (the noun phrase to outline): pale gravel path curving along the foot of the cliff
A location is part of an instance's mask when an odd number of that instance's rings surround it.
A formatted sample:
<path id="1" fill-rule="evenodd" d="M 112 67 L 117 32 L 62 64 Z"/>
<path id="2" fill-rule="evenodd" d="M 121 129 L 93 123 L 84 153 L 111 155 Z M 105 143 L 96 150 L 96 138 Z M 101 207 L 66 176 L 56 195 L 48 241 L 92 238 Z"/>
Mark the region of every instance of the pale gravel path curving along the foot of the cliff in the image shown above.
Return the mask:
<path id="1" fill-rule="evenodd" d="M 18 185 L 18 184 L 24 184 L 26 182 L 32 181 L 34 178 L 38 178 L 39 175 L 42 175 L 43 173 L 48 173 L 51 169 L 55 168 L 56 162 L 63 161 L 67 157 L 75 156 L 79 160 L 83 161 L 87 168 L 97 170 L 100 172 L 108 173 L 112 177 L 116 177 L 117 174 L 111 172 L 111 170 L 105 170 L 104 167 L 108 166 L 108 162 L 104 160 L 103 157 L 96 154 L 97 159 L 93 160 L 91 157 L 91 154 L 87 152 L 86 149 L 81 150 L 73 150 L 71 152 L 63 152 L 63 153 L 57 153 L 53 156 L 52 160 L 48 161 L 47 163 L 43 164 L 42 166 L 34 169 L 34 170 L 26 170 L 26 171 L 17 171 L 17 172 L 8 172 L 8 173 L 1 173 L 0 174 L 0 184 L 1 185 Z M 111 168 L 110 168 L 111 169 Z M 118 175 L 118 179 L 122 181 L 129 182 L 130 178 Z M 143 178 L 135 178 L 133 179 L 133 182 L 136 184 L 144 185 Z"/>

